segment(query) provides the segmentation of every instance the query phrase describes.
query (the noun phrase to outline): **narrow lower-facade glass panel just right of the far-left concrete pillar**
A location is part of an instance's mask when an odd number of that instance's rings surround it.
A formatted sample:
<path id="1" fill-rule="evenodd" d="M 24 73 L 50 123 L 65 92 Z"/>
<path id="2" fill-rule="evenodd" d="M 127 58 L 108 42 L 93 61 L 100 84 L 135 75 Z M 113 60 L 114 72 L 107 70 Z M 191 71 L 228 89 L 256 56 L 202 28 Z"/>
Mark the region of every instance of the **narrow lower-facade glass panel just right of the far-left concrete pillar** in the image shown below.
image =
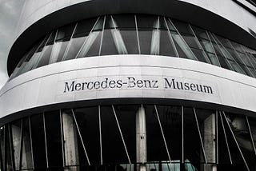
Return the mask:
<path id="1" fill-rule="evenodd" d="M 31 141 L 30 141 L 30 125 L 29 119 L 24 118 L 22 123 L 22 168 L 21 169 L 33 169 Z"/>

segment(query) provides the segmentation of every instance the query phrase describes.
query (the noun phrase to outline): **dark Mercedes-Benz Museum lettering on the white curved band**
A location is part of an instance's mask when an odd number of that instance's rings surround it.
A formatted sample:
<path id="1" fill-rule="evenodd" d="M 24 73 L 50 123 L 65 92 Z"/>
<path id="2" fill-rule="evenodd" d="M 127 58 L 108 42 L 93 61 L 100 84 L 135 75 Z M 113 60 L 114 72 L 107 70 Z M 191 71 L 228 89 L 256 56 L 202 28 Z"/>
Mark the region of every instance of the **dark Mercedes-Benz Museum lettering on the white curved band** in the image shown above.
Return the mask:
<path id="1" fill-rule="evenodd" d="M 138 79 L 132 76 L 122 79 L 103 78 L 102 80 L 89 82 L 65 82 L 63 93 L 90 89 L 176 89 L 197 93 L 214 94 L 214 89 L 211 85 L 204 85 L 198 83 L 198 81 L 188 82 L 182 80 L 182 78 Z"/>

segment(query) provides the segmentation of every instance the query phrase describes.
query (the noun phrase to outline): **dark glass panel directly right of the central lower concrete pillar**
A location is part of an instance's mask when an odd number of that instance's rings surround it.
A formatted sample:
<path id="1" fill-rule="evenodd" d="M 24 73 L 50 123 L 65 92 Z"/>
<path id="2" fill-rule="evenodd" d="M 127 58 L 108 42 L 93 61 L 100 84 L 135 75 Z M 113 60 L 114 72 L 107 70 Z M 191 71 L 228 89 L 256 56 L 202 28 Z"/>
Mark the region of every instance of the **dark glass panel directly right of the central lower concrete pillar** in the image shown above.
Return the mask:
<path id="1" fill-rule="evenodd" d="M 169 161 L 154 105 L 146 105 L 145 112 L 147 161 Z"/>

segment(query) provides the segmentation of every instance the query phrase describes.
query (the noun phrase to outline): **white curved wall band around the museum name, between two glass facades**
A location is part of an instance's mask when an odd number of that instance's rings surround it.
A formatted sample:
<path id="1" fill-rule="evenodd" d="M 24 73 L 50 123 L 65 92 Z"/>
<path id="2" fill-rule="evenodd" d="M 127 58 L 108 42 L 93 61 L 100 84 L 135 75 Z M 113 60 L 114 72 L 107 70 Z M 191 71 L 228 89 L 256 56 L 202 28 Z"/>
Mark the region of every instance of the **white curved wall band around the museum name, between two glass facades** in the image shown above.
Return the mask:
<path id="1" fill-rule="evenodd" d="M 85 89 L 64 93 L 65 82 L 105 78 L 158 80 L 158 88 Z M 210 85 L 213 93 L 165 89 L 164 78 Z M 70 83 L 69 83 L 70 84 Z M 0 90 L 0 117 L 37 106 L 68 101 L 154 97 L 206 101 L 256 112 L 256 79 L 203 62 L 153 55 L 79 58 L 42 66 L 14 78 Z M 157 101 L 156 101 L 157 103 Z"/>

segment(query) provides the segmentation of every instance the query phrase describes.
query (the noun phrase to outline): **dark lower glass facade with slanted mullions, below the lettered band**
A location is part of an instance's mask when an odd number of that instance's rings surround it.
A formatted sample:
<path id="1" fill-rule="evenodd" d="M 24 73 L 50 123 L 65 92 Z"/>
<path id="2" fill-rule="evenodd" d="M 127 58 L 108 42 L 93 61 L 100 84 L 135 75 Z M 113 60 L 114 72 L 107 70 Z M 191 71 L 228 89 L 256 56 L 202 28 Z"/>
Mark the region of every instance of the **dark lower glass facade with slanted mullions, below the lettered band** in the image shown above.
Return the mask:
<path id="1" fill-rule="evenodd" d="M 0 170 L 255 170 L 255 142 L 256 118 L 215 109 L 58 109 L 0 127 Z"/>

